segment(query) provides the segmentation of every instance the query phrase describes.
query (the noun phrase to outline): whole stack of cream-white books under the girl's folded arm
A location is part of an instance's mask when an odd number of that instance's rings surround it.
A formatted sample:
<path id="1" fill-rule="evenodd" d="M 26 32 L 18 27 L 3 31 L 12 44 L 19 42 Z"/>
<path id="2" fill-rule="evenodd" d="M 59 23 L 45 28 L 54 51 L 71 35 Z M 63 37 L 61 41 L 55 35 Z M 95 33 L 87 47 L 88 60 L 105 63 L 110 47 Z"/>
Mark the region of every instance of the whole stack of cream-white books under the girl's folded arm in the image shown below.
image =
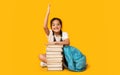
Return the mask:
<path id="1" fill-rule="evenodd" d="M 46 49 L 48 70 L 63 70 L 63 45 L 48 45 Z"/>

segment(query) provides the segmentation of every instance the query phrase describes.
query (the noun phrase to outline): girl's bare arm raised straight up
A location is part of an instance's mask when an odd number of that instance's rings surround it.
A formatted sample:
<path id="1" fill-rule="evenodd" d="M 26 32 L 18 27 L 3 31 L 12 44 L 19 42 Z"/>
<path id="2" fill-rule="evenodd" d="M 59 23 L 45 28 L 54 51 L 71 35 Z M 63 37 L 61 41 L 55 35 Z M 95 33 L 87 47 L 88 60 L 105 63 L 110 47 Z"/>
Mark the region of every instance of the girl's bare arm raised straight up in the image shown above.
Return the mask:
<path id="1" fill-rule="evenodd" d="M 46 13 L 45 20 L 44 20 L 44 27 L 43 27 L 47 35 L 49 35 L 49 29 L 48 29 L 49 14 L 50 14 L 50 4 L 48 5 L 47 13 Z"/>

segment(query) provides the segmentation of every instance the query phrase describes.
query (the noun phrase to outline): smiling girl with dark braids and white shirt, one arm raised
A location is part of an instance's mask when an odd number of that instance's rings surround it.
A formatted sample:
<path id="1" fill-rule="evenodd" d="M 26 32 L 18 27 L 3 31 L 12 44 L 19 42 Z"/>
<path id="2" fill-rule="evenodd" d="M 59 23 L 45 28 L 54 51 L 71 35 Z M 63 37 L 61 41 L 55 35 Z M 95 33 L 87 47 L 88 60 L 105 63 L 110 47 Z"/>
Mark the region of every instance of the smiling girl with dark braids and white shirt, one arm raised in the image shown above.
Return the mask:
<path id="1" fill-rule="evenodd" d="M 48 36 L 48 44 L 60 44 L 60 45 L 69 45 L 70 41 L 68 38 L 68 34 L 66 32 L 62 32 L 62 21 L 59 18 L 53 18 L 50 22 L 51 30 L 48 29 L 48 17 L 50 14 L 50 5 L 48 5 L 48 10 L 46 13 L 46 17 L 44 20 L 44 31 Z M 41 66 L 46 66 L 46 54 L 40 54 L 39 59 L 41 62 Z"/>

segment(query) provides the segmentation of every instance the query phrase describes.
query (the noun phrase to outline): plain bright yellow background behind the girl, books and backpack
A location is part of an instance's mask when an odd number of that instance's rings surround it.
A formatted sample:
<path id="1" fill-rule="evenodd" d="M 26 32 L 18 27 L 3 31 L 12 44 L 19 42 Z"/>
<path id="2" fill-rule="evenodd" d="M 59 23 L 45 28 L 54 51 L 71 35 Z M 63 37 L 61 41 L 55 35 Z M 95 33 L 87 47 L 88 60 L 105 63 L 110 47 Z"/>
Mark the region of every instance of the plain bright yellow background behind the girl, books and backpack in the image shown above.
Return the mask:
<path id="1" fill-rule="evenodd" d="M 68 32 L 71 45 L 80 49 L 87 57 L 86 71 L 71 72 L 65 69 L 54 72 L 39 66 L 38 55 L 45 53 L 44 44 L 47 42 L 43 22 L 48 3 L 51 4 L 49 22 L 53 17 L 62 19 L 63 31 Z M 119 15 L 116 15 L 119 14 L 117 1 L 8 0 L 1 1 L 1 5 L 1 30 L 3 30 L 1 33 L 5 37 L 1 37 L 3 49 L 0 57 L 0 75 L 118 74 L 119 61 L 116 57 L 119 57 L 119 51 L 116 52 L 114 50 L 116 47 L 108 45 L 108 43 L 115 44 L 109 37 L 113 37 L 111 36 L 114 34 L 113 31 L 118 32 L 117 26 L 120 25 Z M 116 13 L 111 13 L 112 10 Z M 114 15 L 117 16 L 117 20 L 114 20 Z M 109 21 L 111 17 L 113 20 Z M 114 36 L 119 39 L 119 33 L 115 34 Z M 119 42 L 116 46 L 119 46 Z M 113 53 L 114 51 L 117 54 Z"/>

